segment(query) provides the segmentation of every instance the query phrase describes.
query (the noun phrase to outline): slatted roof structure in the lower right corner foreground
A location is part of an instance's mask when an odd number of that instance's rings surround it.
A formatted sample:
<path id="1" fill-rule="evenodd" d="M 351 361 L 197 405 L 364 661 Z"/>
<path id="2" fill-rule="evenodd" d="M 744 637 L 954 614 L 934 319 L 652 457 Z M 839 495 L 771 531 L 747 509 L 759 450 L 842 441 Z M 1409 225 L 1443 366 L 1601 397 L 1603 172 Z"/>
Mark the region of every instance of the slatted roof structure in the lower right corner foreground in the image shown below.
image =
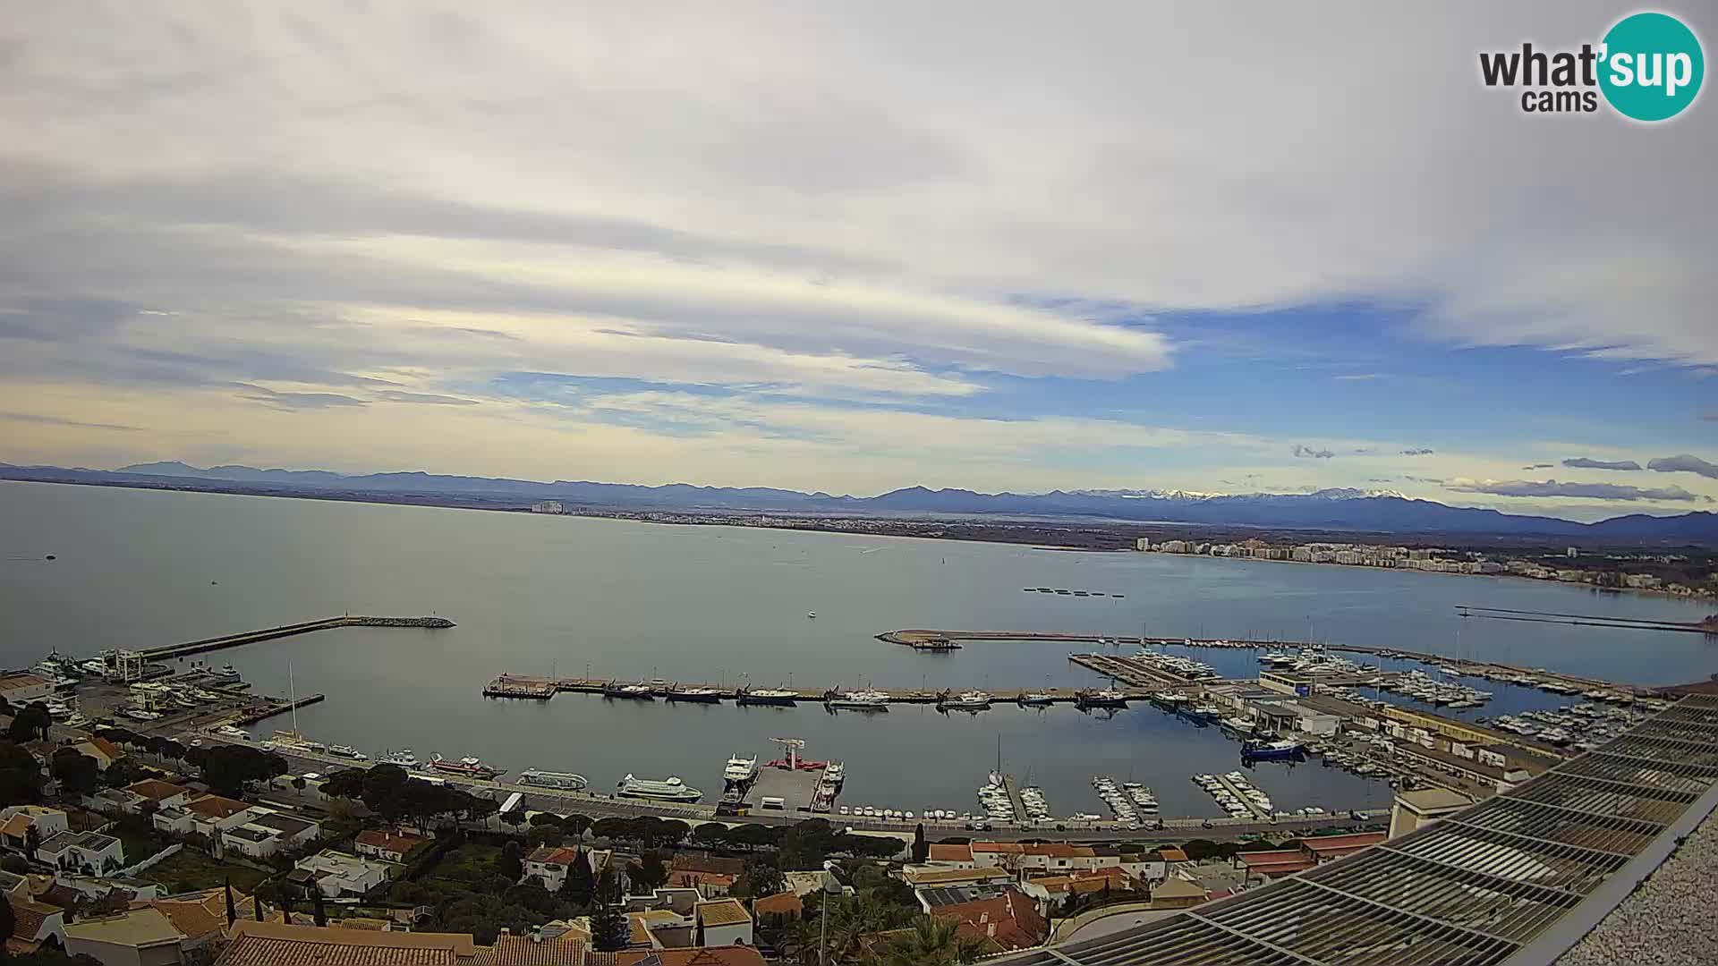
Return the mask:
<path id="1" fill-rule="evenodd" d="M 1553 963 L 1718 804 L 1718 696 L 1441 822 L 1170 918 L 1008 966 Z"/>

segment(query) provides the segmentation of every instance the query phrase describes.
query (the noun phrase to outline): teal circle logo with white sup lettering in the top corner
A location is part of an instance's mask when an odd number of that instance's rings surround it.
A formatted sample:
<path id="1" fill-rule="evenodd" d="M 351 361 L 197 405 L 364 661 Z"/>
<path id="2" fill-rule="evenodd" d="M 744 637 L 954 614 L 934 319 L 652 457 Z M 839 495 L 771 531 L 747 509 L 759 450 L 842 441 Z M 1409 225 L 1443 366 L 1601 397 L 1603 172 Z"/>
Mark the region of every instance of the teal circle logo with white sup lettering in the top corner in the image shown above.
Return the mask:
<path id="1" fill-rule="evenodd" d="M 1701 41 L 1668 14 L 1634 14 L 1605 34 L 1599 89 L 1624 117 L 1668 120 L 1701 93 Z"/>

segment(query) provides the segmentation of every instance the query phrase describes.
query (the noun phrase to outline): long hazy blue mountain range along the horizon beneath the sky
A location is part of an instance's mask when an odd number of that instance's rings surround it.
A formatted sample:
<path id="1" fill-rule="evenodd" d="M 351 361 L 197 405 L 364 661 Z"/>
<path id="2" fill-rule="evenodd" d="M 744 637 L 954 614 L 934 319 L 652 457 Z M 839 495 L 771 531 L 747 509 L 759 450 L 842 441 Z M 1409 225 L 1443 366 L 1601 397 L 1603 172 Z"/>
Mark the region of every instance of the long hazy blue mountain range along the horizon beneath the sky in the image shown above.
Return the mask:
<path id="1" fill-rule="evenodd" d="M 184 462 L 141 462 L 120 469 L 0 464 L 0 478 L 119 486 L 172 486 L 275 495 L 352 495 L 462 500 L 481 505 L 526 505 L 562 500 L 569 509 L 655 511 L 792 511 L 838 516 L 990 516 L 1093 517 L 1134 523 L 1345 529 L 1366 533 L 1462 533 L 1495 536 L 1558 536 L 1594 543 L 1718 547 L 1718 514 L 1630 514 L 1598 523 L 1450 507 L 1393 492 L 1331 488 L 1314 493 L 1215 495 L 1180 490 L 1079 490 L 1050 493 L 978 493 L 907 486 L 876 497 L 804 493 L 766 486 L 641 486 L 584 480 L 509 480 L 438 473 L 344 474 L 325 469 L 198 468 Z"/>

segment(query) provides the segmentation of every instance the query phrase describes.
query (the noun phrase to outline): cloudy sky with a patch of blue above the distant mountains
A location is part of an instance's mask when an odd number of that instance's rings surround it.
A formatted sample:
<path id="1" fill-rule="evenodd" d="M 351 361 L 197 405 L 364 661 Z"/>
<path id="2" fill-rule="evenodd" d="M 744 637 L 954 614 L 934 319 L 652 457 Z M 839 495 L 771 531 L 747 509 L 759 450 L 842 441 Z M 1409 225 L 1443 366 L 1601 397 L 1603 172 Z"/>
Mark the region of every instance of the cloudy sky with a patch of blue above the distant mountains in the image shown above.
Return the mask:
<path id="1" fill-rule="evenodd" d="M 1479 83 L 1627 12 L 12 5 L 0 461 L 1718 509 L 1713 93 Z"/>

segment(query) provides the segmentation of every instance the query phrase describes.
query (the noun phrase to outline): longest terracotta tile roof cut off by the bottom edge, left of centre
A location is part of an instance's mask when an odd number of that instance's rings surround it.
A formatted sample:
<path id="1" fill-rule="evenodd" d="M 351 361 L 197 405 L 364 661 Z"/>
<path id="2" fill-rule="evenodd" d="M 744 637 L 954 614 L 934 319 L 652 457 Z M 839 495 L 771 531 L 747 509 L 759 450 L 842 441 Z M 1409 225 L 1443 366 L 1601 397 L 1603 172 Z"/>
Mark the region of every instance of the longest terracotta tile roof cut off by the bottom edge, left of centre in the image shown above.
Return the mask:
<path id="1" fill-rule="evenodd" d="M 216 966 L 457 966 L 472 961 L 469 933 L 364 932 L 283 923 L 234 923 Z"/>

